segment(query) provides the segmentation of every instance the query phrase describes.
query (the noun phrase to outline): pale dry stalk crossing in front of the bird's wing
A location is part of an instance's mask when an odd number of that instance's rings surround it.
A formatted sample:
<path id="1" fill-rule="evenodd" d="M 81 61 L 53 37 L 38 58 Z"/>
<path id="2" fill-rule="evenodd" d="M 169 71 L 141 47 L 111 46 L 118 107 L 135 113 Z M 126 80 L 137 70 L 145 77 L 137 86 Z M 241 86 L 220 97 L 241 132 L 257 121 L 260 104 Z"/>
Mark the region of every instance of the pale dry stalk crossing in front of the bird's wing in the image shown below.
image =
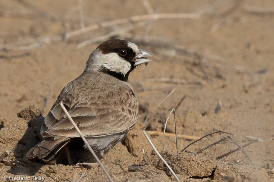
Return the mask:
<path id="1" fill-rule="evenodd" d="M 81 133 L 81 131 L 79 130 L 78 126 L 76 126 L 75 122 L 72 120 L 72 117 L 69 115 L 68 111 L 66 110 L 64 104 L 62 102 L 60 102 L 60 106 L 62 107 L 62 109 L 64 110 L 65 114 L 68 116 L 68 119 L 70 120 L 70 122 L 72 123 L 72 125 L 75 127 L 76 131 L 79 133 L 79 135 L 81 136 L 82 140 L 85 142 L 86 146 L 88 147 L 88 149 L 90 150 L 91 154 L 93 155 L 93 157 L 95 158 L 95 160 L 100 164 L 101 168 L 103 169 L 104 173 L 107 175 L 108 179 L 111 182 L 114 182 L 110 175 L 107 173 L 105 167 L 103 166 L 103 164 L 100 162 L 100 160 L 98 159 L 97 155 L 95 154 L 95 152 L 92 150 L 92 148 L 90 147 L 89 143 L 86 141 L 85 137 L 83 136 L 83 134 Z"/>

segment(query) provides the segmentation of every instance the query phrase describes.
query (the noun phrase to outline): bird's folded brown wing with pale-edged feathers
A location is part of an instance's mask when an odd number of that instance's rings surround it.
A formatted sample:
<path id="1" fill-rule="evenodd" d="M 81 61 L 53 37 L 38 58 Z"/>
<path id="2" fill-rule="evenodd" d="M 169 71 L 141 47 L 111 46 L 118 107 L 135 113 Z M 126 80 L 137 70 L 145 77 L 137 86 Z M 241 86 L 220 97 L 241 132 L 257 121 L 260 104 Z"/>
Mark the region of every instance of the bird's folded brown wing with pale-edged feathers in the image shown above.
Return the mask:
<path id="1" fill-rule="evenodd" d="M 45 118 L 47 130 L 42 136 L 80 137 L 62 110 L 60 101 L 86 137 L 121 133 L 134 127 L 138 103 L 131 88 L 121 87 L 102 91 L 102 88 L 98 87 L 82 95 L 84 96 L 60 94 Z"/>

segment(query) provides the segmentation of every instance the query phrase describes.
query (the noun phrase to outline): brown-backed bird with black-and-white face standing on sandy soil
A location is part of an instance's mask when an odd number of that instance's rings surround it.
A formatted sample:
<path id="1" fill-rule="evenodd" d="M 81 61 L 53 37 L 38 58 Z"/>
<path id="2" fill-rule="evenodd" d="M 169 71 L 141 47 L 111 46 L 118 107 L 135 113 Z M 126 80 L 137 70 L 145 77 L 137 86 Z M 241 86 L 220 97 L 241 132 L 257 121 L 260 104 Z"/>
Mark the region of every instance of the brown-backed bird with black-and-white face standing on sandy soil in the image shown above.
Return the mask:
<path id="1" fill-rule="evenodd" d="M 80 135 L 60 106 L 62 102 L 94 152 L 100 152 L 122 141 L 138 118 L 138 102 L 129 74 L 141 64 L 148 64 L 152 54 L 135 43 L 110 39 L 101 43 L 89 56 L 83 73 L 68 83 L 44 119 L 41 142 L 23 158 L 38 157 L 50 161 L 63 147 L 70 159 L 69 143 Z M 86 144 L 83 144 L 85 149 Z"/>

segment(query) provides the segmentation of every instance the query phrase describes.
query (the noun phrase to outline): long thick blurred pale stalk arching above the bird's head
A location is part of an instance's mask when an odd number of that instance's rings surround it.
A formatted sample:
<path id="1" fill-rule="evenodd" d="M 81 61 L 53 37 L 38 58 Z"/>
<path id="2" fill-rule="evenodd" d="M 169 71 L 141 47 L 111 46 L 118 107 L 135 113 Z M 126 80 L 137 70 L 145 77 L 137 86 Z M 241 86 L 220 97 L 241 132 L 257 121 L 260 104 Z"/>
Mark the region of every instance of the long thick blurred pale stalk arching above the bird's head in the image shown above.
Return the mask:
<path id="1" fill-rule="evenodd" d="M 87 26 L 84 29 L 78 29 L 72 32 L 67 32 L 65 34 L 65 40 L 68 40 L 69 38 L 73 36 L 76 36 L 85 32 L 90 32 L 92 30 L 97 30 L 100 28 L 105 28 L 113 25 L 125 24 L 130 22 L 139 22 L 143 20 L 170 19 L 170 18 L 171 19 L 199 19 L 200 16 L 195 14 L 188 14 L 188 13 L 162 13 L 162 14 L 160 13 L 160 14 L 137 15 L 129 18 L 102 22 L 99 24 Z"/>

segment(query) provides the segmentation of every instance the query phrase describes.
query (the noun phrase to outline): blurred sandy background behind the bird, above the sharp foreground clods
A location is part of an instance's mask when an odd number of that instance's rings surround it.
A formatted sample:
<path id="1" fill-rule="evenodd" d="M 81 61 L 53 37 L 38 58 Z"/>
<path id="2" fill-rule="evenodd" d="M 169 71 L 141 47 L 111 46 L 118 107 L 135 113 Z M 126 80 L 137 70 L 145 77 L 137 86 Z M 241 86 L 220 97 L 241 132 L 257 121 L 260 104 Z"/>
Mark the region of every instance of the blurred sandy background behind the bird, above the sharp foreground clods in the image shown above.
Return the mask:
<path id="1" fill-rule="evenodd" d="M 0 24 L 2 117 L 32 104 L 45 116 L 90 53 L 118 38 L 154 56 L 129 76 L 148 130 L 176 107 L 182 134 L 274 134 L 273 0 L 1 0 Z M 260 145 L 256 165 L 273 166 L 273 142 Z"/>

